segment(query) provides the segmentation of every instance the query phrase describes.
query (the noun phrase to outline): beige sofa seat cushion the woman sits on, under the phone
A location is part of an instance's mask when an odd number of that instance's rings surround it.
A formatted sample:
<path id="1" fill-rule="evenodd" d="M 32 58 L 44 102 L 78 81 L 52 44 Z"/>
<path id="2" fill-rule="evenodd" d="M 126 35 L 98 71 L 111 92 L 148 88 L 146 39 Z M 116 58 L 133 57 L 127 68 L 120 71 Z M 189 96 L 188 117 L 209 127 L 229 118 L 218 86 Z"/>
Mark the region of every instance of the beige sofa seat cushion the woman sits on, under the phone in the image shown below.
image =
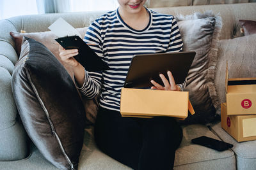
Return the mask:
<path id="1" fill-rule="evenodd" d="M 204 146 L 191 144 L 190 141 L 198 136 L 209 136 L 218 139 L 204 125 L 187 125 L 183 127 L 183 139 L 176 151 L 174 169 L 236 169 L 236 160 L 232 150 L 218 152 Z M 0 162 L 0 167 L 8 169 L 54 169 L 40 152 L 33 146 L 33 153 L 29 159 L 15 162 Z M 6 168 L 7 169 L 7 168 Z M 84 130 L 84 144 L 79 157 L 78 169 L 119 170 L 131 169 L 102 153 L 95 145 L 93 127 Z"/>

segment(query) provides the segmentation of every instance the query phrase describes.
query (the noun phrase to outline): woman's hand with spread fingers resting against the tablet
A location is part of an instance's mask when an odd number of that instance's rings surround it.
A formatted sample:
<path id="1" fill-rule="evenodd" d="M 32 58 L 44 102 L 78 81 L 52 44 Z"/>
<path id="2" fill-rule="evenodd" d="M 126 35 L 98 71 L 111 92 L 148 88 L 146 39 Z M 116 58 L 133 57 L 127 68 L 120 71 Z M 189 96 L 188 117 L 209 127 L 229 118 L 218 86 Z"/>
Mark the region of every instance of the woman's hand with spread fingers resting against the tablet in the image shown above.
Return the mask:
<path id="1" fill-rule="evenodd" d="M 164 83 L 164 87 L 159 85 L 159 83 L 157 83 L 156 81 L 151 80 L 150 82 L 154 85 L 151 87 L 151 89 L 180 91 L 180 87 L 176 85 L 171 71 L 167 71 L 167 75 L 169 81 L 165 78 L 164 74 L 159 74 L 161 80 Z"/>

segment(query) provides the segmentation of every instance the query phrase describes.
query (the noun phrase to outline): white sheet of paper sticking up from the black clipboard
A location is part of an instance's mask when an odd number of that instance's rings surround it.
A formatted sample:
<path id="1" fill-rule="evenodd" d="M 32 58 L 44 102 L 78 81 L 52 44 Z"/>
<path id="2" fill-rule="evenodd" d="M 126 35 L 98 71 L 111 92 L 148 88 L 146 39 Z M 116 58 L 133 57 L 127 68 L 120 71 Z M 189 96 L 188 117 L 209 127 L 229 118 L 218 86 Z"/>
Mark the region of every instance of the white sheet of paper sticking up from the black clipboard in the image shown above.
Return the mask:
<path id="1" fill-rule="evenodd" d="M 68 24 L 63 18 L 58 18 L 52 25 L 48 27 L 58 38 L 65 37 L 65 36 L 79 36 L 81 34 L 72 27 L 72 25 Z"/>

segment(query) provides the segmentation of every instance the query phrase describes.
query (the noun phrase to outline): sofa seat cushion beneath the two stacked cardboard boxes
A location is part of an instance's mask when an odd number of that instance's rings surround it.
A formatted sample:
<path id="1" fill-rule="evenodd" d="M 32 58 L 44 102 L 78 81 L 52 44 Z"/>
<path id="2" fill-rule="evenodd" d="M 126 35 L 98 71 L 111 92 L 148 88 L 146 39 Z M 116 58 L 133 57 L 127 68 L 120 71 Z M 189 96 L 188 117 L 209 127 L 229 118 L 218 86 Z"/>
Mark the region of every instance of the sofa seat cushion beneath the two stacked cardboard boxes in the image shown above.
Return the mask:
<path id="1" fill-rule="evenodd" d="M 254 170 L 256 167 L 256 140 L 238 143 L 232 136 L 230 136 L 221 124 L 216 124 L 212 129 L 220 136 L 223 141 L 233 144 L 233 152 L 236 154 L 237 169 Z"/>

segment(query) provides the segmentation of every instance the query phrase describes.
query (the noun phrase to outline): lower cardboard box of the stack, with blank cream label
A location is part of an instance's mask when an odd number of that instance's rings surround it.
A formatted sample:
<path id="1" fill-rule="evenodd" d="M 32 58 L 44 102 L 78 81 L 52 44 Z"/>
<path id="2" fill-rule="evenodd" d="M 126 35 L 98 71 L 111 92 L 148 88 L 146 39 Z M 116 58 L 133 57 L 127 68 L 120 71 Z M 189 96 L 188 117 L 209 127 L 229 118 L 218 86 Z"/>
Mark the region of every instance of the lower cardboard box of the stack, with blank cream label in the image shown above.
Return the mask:
<path id="1" fill-rule="evenodd" d="M 256 115 L 227 115 L 226 103 L 221 103 L 221 127 L 238 142 L 256 140 Z"/>

